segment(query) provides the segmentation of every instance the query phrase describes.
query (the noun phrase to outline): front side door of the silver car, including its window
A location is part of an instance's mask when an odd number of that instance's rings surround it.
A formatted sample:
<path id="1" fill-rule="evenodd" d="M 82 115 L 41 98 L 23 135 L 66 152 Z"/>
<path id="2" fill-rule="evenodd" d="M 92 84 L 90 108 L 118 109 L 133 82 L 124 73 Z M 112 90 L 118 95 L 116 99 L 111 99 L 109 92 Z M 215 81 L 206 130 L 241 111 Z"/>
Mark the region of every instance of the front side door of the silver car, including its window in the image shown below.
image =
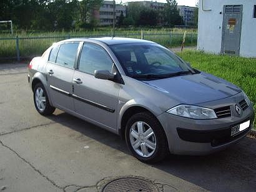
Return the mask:
<path id="1" fill-rule="evenodd" d="M 75 111 L 93 122 L 116 129 L 120 84 L 96 79 L 94 70 L 113 72 L 113 61 L 102 47 L 84 43 L 78 69 L 74 72 Z"/>

